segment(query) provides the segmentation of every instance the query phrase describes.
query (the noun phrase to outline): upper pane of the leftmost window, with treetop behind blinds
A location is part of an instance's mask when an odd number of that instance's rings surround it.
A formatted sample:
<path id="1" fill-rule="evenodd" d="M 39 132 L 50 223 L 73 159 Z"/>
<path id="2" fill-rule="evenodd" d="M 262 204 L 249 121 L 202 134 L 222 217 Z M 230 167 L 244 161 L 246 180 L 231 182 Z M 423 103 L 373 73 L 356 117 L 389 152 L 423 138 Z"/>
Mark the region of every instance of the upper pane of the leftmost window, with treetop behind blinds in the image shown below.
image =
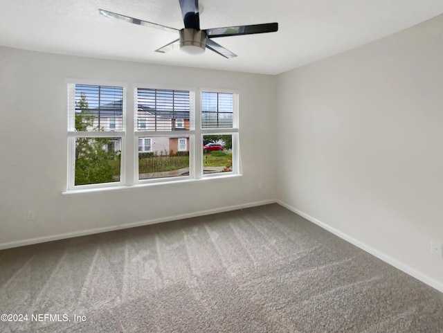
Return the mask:
<path id="1" fill-rule="evenodd" d="M 75 84 L 76 131 L 122 131 L 123 87 Z"/>

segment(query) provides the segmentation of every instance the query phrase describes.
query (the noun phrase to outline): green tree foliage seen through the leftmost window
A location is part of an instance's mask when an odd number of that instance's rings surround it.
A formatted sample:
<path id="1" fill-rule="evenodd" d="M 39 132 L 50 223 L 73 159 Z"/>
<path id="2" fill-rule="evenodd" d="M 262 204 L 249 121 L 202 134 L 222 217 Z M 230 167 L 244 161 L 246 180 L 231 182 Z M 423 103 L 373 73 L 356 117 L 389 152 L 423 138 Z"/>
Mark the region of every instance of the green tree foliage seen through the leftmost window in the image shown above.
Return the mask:
<path id="1" fill-rule="evenodd" d="M 75 112 L 75 130 L 85 132 L 93 127 L 95 116 L 91 114 L 84 94 L 77 105 L 80 112 Z M 75 185 L 114 181 L 114 170 L 109 162 L 115 158 L 115 152 L 110 143 L 110 138 L 79 137 L 76 139 Z"/>

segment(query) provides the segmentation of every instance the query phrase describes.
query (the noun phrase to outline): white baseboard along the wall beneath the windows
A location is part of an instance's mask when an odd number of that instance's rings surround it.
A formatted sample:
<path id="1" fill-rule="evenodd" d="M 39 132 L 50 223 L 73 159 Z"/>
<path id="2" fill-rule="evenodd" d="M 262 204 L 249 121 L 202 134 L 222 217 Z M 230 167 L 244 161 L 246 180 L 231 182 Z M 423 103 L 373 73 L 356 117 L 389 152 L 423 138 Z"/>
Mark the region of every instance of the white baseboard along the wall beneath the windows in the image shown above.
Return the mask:
<path id="1" fill-rule="evenodd" d="M 31 245 L 31 244 L 51 242 L 53 240 L 64 240 L 66 238 L 92 235 L 94 233 L 106 233 L 108 231 L 116 231 L 119 229 L 134 228 L 136 226 L 147 226 L 148 224 L 170 222 L 170 221 L 175 221 L 177 219 L 188 219 L 190 217 L 198 217 L 198 216 L 204 216 L 204 215 L 210 215 L 210 214 L 223 213 L 223 212 L 228 212 L 230 210 L 239 210 L 242 208 L 250 208 L 250 207 L 255 207 L 255 206 L 263 206 L 263 205 L 267 205 L 267 204 L 275 204 L 275 202 L 276 201 L 274 199 L 264 200 L 264 201 L 255 201 L 255 202 L 250 202 L 248 204 L 226 206 L 226 207 L 214 208 L 214 209 L 209 209 L 209 210 L 201 210 L 199 212 L 194 212 L 194 213 L 172 215 L 172 216 L 168 216 L 168 217 L 161 217 L 159 219 L 150 219 L 147 221 L 120 224 L 117 226 L 105 226 L 102 228 L 74 231 L 72 233 L 62 233 L 62 234 L 58 234 L 58 235 L 35 237 L 35 238 L 30 238 L 28 240 L 18 240 L 15 242 L 8 242 L 8 243 L 0 244 L 0 250 L 10 249 L 13 247 L 18 247 L 18 246 L 26 246 L 26 245 Z"/>

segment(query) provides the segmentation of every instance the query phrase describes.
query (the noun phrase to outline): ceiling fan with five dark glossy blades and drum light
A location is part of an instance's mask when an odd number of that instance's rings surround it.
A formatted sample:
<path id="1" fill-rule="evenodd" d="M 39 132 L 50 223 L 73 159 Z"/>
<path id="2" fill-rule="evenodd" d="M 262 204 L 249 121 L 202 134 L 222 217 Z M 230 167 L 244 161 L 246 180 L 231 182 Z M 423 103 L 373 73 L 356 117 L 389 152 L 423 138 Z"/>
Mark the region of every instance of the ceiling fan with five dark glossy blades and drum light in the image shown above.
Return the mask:
<path id="1" fill-rule="evenodd" d="M 273 33 L 278 30 L 278 23 L 253 24 L 250 26 L 229 26 L 226 28 L 212 28 L 200 29 L 199 19 L 199 0 L 179 0 L 181 7 L 181 15 L 185 28 L 179 30 L 170 28 L 169 26 L 162 26 L 134 17 L 117 14 L 116 12 L 109 12 L 108 10 L 99 9 L 100 15 L 110 17 L 113 19 L 121 19 L 129 23 L 138 24 L 139 26 L 148 26 L 151 28 L 159 28 L 166 31 L 179 32 L 179 39 L 170 42 L 165 46 L 156 50 L 156 52 L 166 53 L 174 50 L 174 48 L 181 48 L 181 50 L 190 54 L 204 53 L 205 48 L 218 53 L 219 55 L 230 58 L 237 57 L 234 53 L 224 48 L 220 44 L 213 41 L 215 37 L 228 37 L 237 35 L 252 35 L 255 33 Z"/>

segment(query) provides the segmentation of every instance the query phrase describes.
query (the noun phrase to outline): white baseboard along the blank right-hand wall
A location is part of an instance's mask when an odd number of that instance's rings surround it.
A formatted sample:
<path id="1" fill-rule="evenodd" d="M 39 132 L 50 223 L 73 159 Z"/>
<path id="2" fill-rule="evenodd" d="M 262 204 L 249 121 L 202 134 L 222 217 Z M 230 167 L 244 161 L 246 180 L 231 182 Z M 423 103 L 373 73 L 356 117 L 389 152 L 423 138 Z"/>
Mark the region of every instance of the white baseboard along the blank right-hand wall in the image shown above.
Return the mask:
<path id="1" fill-rule="evenodd" d="M 390 257 L 389 255 L 386 255 L 384 253 L 381 253 L 377 249 L 374 249 L 371 246 L 368 246 L 367 244 L 360 242 L 359 240 L 356 240 L 353 237 L 350 237 L 349 235 L 346 235 L 345 233 L 342 233 L 341 231 L 338 231 L 336 228 L 332 228 L 332 226 L 329 226 L 325 224 L 324 222 L 319 221 L 315 217 L 311 217 L 311 215 L 307 215 L 306 213 L 303 213 L 301 210 L 298 210 L 297 208 L 293 208 L 292 206 L 289 206 L 288 204 L 276 200 L 275 201 L 280 206 L 283 206 L 284 208 L 287 208 L 291 210 L 293 213 L 296 213 L 297 215 L 300 215 L 301 217 L 304 217 L 308 221 L 320 226 L 321 228 L 324 228 L 325 230 L 329 231 L 330 233 L 333 233 L 334 235 L 340 237 L 343 240 L 346 240 L 347 242 L 350 242 L 351 244 L 354 244 L 355 246 L 359 247 L 363 251 L 366 251 L 375 257 L 383 260 L 384 262 L 387 262 L 391 266 L 399 269 L 400 271 L 404 271 L 404 273 L 413 276 L 417 280 L 420 280 L 426 285 L 429 285 L 433 287 L 434 289 L 437 289 L 440 292 L 443 292 L 443 283 L 440 281 L 437 281 L 429 276 L 426 276 L 424 273 L 421 273 L 417 271 L 416 269 L 413 269 L 412 267 L 409 267 L 407 264 L 404 264 L 403 262 L 399 262 L 398 260 Z"/>

